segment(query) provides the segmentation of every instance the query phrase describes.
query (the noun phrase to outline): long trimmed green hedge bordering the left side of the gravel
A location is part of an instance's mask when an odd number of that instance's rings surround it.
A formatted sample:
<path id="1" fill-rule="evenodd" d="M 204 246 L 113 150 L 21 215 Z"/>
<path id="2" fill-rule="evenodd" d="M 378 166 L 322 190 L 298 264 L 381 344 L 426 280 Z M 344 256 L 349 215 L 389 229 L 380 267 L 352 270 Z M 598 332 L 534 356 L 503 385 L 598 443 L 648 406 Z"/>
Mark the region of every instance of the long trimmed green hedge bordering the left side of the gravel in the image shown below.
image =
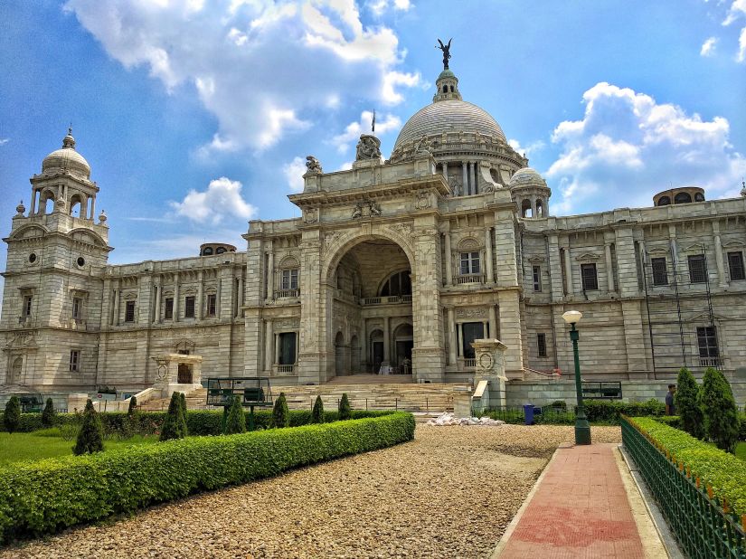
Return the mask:
<path id="1" fill-rule="evenodd" d="M 414 417 L 394 412 L 9 465 L 0 469 L 0 543 L 413 438 Z"/>

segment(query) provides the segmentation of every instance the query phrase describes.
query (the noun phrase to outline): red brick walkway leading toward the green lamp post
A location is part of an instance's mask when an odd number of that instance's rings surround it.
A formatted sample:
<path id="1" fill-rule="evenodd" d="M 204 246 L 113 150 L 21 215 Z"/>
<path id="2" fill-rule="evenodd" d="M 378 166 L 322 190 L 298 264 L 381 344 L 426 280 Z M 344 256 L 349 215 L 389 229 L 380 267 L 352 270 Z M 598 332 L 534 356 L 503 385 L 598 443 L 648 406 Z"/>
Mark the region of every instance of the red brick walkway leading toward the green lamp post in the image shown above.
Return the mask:
<path id="1" fill-rule="evenodd" d="M 643 559 L 615 446 L 557 450 L 500 559 Z"/>

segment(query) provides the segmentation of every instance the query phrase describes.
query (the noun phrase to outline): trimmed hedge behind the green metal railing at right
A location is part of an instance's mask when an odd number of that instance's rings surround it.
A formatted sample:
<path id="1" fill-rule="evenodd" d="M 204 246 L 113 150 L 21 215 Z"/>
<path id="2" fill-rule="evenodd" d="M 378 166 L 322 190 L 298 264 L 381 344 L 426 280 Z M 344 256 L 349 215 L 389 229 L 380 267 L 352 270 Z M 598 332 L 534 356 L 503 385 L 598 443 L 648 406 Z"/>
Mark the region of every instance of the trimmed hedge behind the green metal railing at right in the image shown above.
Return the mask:
<path id="1" fill-rule="evenodd" d="M 633 417 L 628 421 L 675 460 L 684 462 L 693 476 L 712 486 L 714 495 L 727 499 L 735 512 L 746 514 L 746 461 L 655 419 Z"/>

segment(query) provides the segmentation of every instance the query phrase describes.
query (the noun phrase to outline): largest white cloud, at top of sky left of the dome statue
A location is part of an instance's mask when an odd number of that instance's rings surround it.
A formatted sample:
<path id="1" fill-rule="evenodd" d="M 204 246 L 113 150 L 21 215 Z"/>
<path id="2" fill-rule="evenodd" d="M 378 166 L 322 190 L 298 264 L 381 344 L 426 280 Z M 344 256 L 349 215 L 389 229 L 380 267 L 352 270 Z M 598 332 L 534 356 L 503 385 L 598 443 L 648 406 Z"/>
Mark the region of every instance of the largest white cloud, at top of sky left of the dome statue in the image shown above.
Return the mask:
<path id="1" fill-rule="evenodd" d="M 394 3 L 404 9 L 407 2 Z M 263 149 L 345 99 L 401 101 L 420 76 L 398 69 L 396 34 L 354 0 L 68 0 L 109 55 L 167 90 L 193 85 L 218 122 L 203 152 Z"/>

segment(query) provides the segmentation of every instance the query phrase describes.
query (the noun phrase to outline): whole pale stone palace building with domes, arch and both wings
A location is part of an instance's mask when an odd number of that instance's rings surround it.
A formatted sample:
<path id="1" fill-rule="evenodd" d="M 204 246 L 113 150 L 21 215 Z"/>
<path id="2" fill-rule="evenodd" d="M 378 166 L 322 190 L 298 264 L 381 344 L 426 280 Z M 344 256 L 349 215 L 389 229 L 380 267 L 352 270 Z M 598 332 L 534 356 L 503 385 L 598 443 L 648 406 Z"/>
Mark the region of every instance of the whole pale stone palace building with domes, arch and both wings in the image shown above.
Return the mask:
<path id="1" fill-rule="evenodd" d="M 211 243 L 172 261 L 108 263 L 99 187 L 69 133 L 5 238 L 0 384 L 135 390 L 165 353 L 274 384 L 465 382 L 484 337 L 524 379 L 572 370 L 570 308 L 585 378 L 744 374 L 746 197 L 683 187 L 649 208 L 553 216 L 542 176 L 455 74 L 436 85 L 388 160 L 373 135 L 348 171 L 309 156 L 289 196 L 302 217 L 250 222 L 246 251 Z"/>

